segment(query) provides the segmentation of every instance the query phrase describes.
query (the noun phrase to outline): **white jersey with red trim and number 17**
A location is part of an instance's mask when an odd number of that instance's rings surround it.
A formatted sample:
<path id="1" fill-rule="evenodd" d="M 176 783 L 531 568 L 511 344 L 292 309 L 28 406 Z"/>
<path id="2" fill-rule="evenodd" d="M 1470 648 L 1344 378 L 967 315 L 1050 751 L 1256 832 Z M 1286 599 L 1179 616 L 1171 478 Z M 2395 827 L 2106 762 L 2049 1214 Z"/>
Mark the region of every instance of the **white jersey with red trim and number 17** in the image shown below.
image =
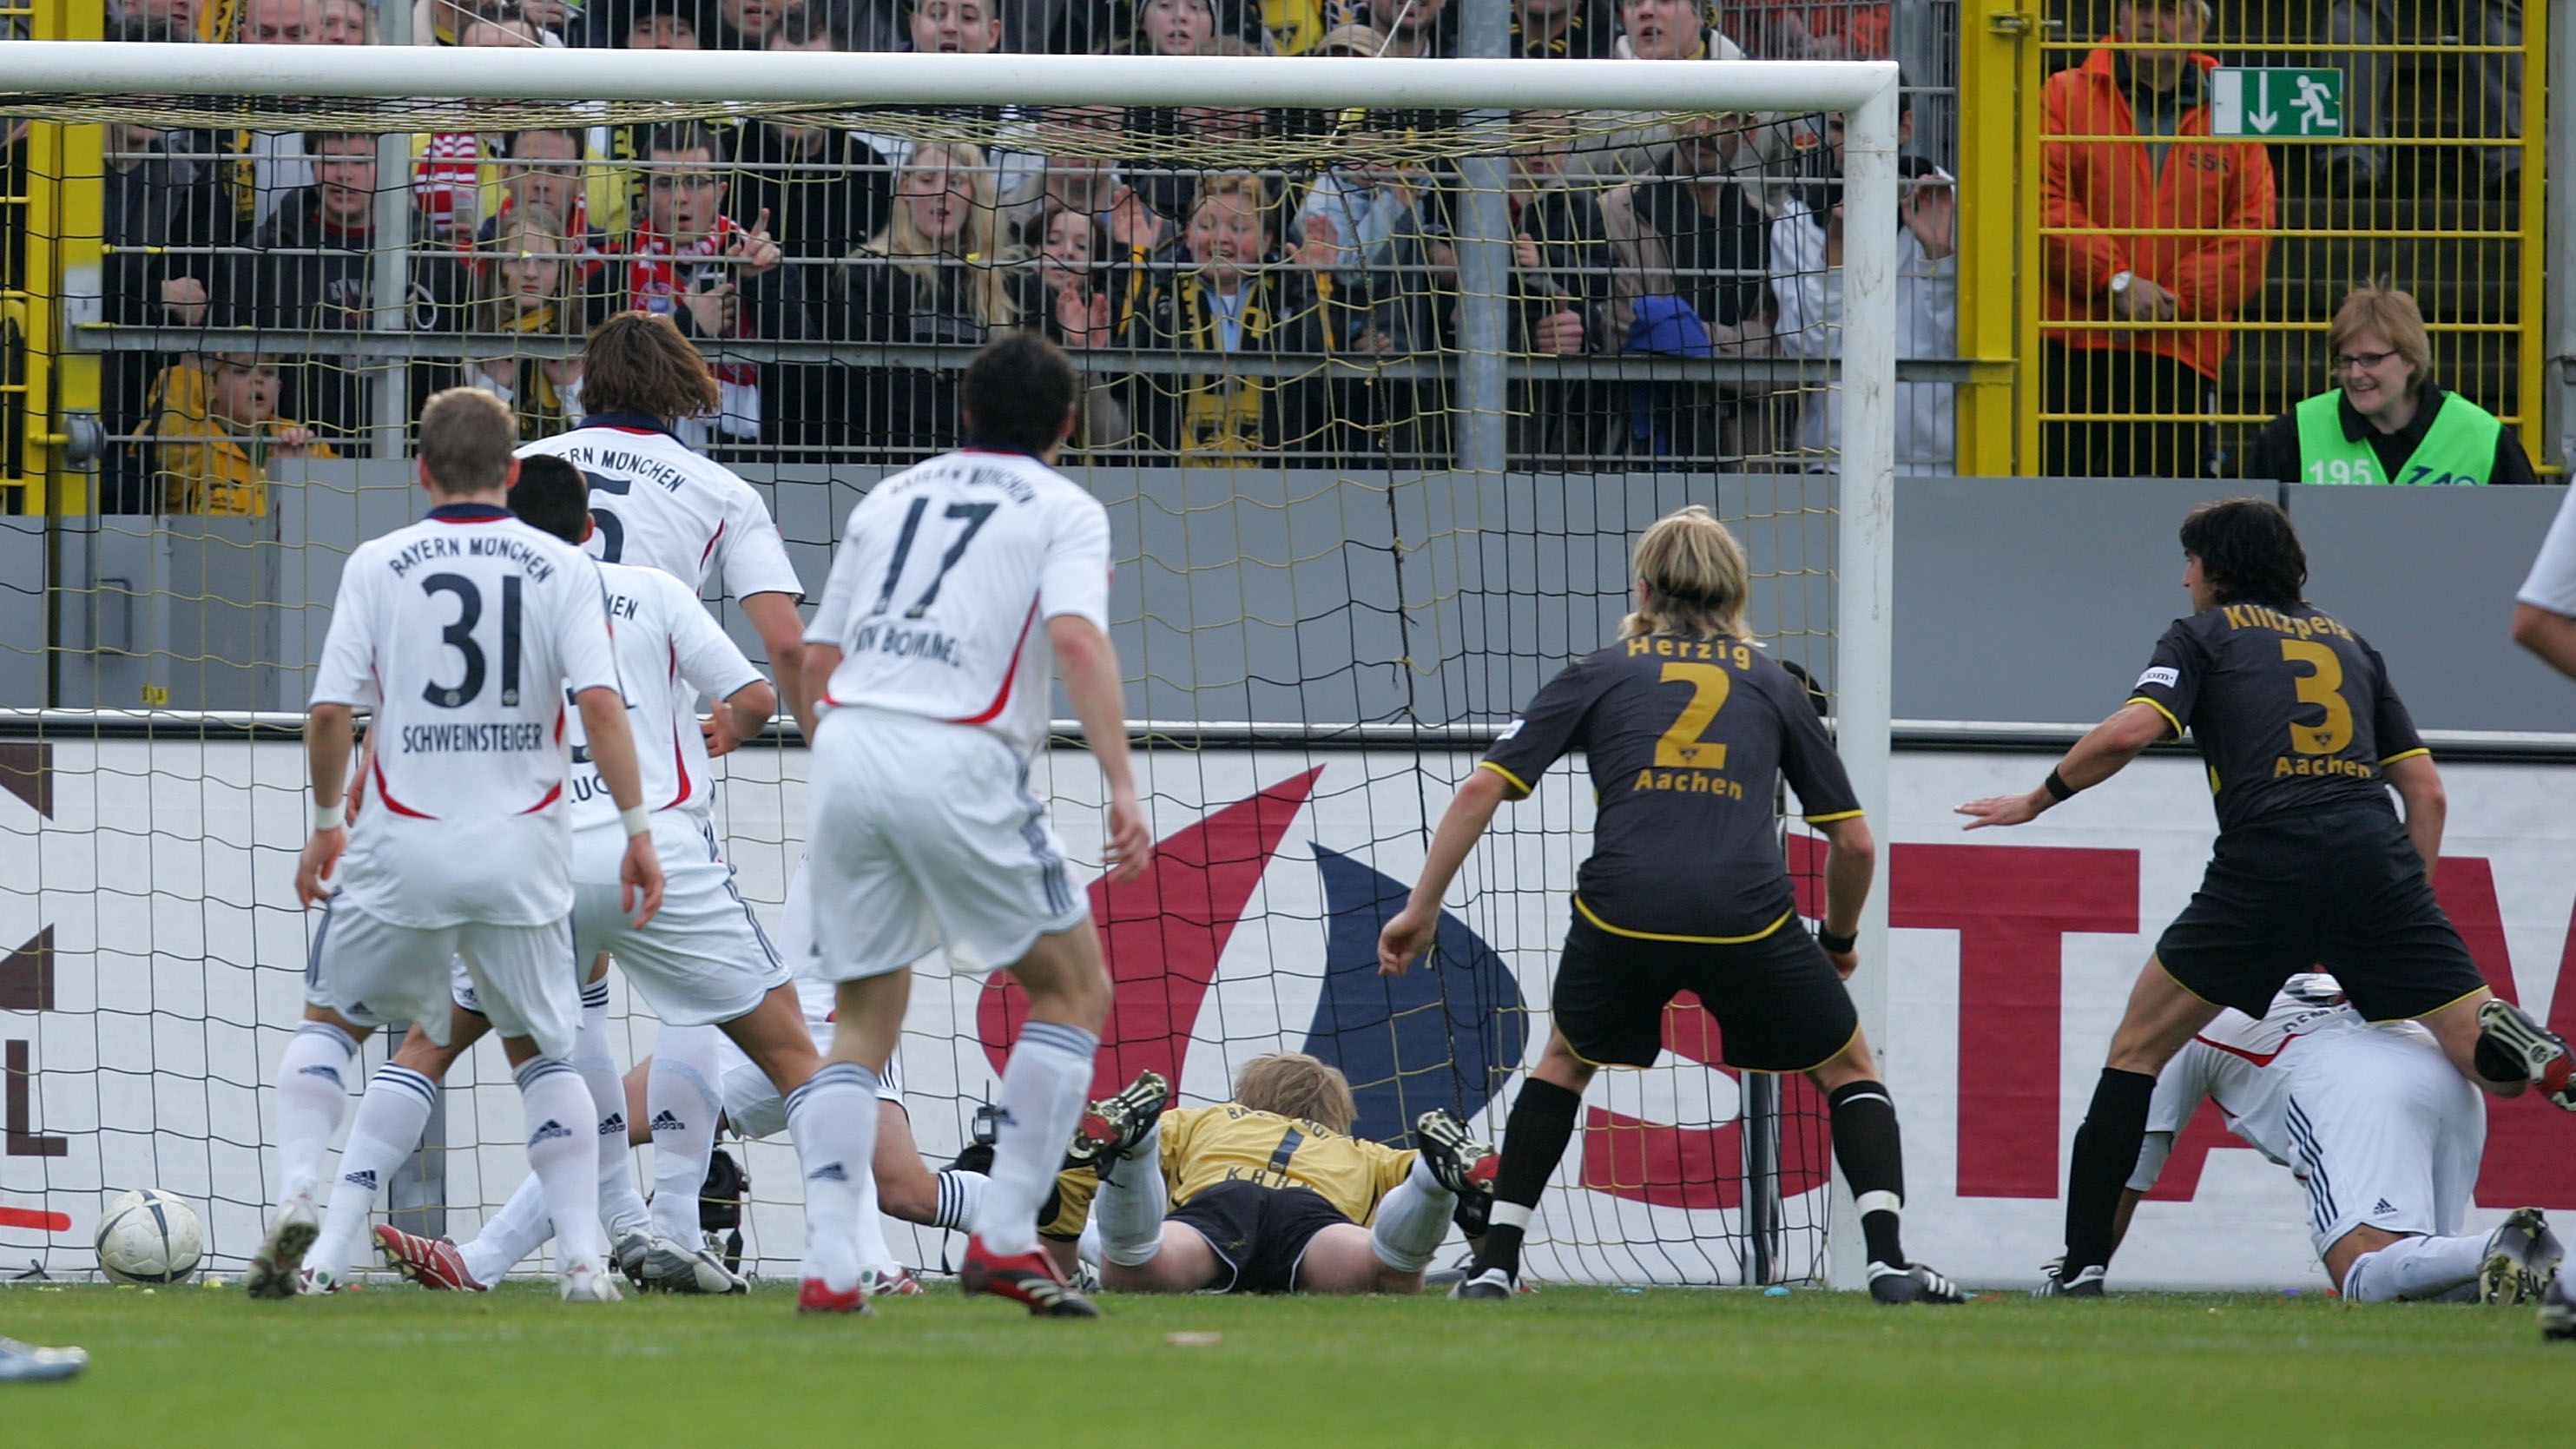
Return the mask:
<path id="1" fill-rule="evenodd" d="M 966 448 L 850 510 L 806 643 L 842 651 L 824 705 L 979 726 L 1036 754 L 1056 672 L 1046 620 L 1105 631 L 1108 602 L 1100 499 L 1025 453 Z"/>

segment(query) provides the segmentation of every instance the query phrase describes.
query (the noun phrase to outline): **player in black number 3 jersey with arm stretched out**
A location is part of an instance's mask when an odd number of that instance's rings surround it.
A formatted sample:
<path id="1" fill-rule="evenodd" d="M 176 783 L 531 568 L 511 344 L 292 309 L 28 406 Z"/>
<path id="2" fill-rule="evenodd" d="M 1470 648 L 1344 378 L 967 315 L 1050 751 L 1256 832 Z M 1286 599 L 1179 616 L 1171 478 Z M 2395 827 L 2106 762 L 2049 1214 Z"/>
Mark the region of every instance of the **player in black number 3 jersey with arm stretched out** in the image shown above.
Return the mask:
<path id="1" fill-rule="evenodd" d="M 1965 829 L 2017 826 L 2120 772 L 2148 744 L 2200 746 L 2218 847 L 2190 906 L 2138 973 L 2066 1168 L 2066 1261 L 2050 1295 L 2102 1292 L 2112 1215 L 2138 1161 L 2156 1073 L 2221 1006 L 2262 1017 L 2280 983 L 2324 968 L 2372 1022 L 2419 1019 L 2460 1073 L 2499 1096 L 2530 1084 L 2576 1109 L 2568 1048 L 2486 991 L 2432 893 L 2442 772 L 2349 625 L 2303 600 L 2308 553 L 2262 499 L 2182 520 L 2174 620 L 2115 715 L 2027 795 L 1958 808 Z M 2388 803 L 2406 803 L 2406 818 Z"/>

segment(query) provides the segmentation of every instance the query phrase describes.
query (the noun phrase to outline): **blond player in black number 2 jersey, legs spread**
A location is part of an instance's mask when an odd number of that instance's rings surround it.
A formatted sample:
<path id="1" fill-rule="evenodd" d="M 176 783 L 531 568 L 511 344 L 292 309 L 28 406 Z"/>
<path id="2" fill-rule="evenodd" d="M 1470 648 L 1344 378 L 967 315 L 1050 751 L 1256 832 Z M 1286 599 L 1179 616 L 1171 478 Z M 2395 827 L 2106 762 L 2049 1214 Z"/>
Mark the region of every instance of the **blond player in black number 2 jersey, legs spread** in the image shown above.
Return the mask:
<path id="1" fill-rule="evenodd" d="M 1806 685 L 1744 625 L 1744 548 L 1705 507 L 1667 515 L 1636 546 L 1636 613 L 1620 641 L 1569 664 L 1450 800 L 1412 901 L 1378 937 L 1399 975 L 1432 939 L 1440 896 L 1494 808 L 1558 757 L 1589 757 L 1592 854 L 1556 970 L 1548 1048 L 1512 1102 L 1492 1225 L 1453 1297 L 1510 1297 L 1520 1238 L 1566 1156 L 1584 1084 L 1602 1066 L 1654 1066 L 1664 1004 L 1695 991 L 1739 1071 L 1798 1071 L 1826 1094 L 1834 1158 L 1860 1204 L 1870 1295 L 1960 1302 L 1899 1246 L 1904 1148 L 1896 1104 L 1842 978 L 1878 849 Z M 1824 929 L 1798 896 L 1772 813 L 1777 780 L 1826 839 Z"/>

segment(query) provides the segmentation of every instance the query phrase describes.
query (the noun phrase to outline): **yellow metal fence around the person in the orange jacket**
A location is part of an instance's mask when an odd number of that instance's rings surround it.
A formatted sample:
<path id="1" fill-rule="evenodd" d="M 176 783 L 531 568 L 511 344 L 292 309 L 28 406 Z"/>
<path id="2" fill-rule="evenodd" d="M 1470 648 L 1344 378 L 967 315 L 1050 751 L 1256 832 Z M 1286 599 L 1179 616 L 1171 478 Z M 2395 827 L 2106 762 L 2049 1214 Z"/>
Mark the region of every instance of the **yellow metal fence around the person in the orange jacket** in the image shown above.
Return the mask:
<path id="1" fill-rule="evenodd" d="M 2339 69 L 2347 124 L 2367 121 L 2354 108 L 2365 103 L 2362 88 L 2378 82 L 2378 134 L 2187 136 L 2179 144 L 2133 131 L 2045 134 L 2048 75 L 2084 64 L 2099 41 L 2050 33 L 2038 10 L 1963 15 L 1958 322 L 1960 358 L 1971 363 L 1958 420 L 1963 474 L 2063 466 L 2050 453 L 2066 450 L 2069 430 L 2110 422 L 2190 430 L 2184 456 L 2154 471 L 2190 474 L 2205 461 L 2226 474 L 2241 471 L 2264 422 L 2334 386 L 2324 358 L 2326 324 L 2349 288 L 2372 281 L 2416 293 L 2432 332 L 2434 381 L 2494 409 L 2519 430 L 2535 458 L 2545 456 L 2545 5 L 2522 10 L 2519 41 L 2478 33 L 2481 15 L 2496 13 L 2491 0 L 2362 0 L 2352 10 L 2378 15 L 2383 28 L 2362 36 L 2370 44 L 2324 33 L 2324 18 L 2311 21 L 2308 8 L 2236 5 L 2218 13 L 2218 23 L 2233 23 L 2236 33 L 2187 39 L 2166 31 L 2164 44 L 2120 46 L 2125 57 L 2202 51 L 2226 67 Z M 2445 28 L 2465 31 L 2478 44 L 2463 44 Z M 2519 80 L 2519 95 L 2501 80 Z M 2501 106 L 2506 98 L 2512 111 Z M 2079 350 L 2066 342 L 2099 342 L 2105 332 L 2099 299 L 2084 306 L 2050 301 L 2050 255 L 2066 239 L 2094 234 L 2115 237 L 2123 250 L 2249 234 L 2223 226 L 2123 224 L 2110 232 L 2081 221 L 2048 224 L 2043 178 L 2058 147 L 2084 154 L 2087 147 L 2138 144 L 2174 144 L 2166 162 L 2179 154 L 2200 165 L 2226 147 L 2267 147 L 2275 216 L 2259 232 L 2267 245 L 2262 286 L 2233 314 L 2120 327 L 2120 347 L 2200 350 L 2202 373 L 2177 373 L 2172 389 L 2179 396 L 2141 383 L 2136 399 L 2115 396 L 2105 407 L 2094 394 L 2050 386 L 2050 368 L 2079 371 L 2069 365 Z M 2336 162 L 2326 165 L 2326 157 Z M 2504 165 L 2506 157 L 2517 157 L 2519 167 Z M 2156 178 L 2164 180 L 2161 170 Z M 1986 283 L 2007 275 L 2012 286 Z M 2221 342 L 2192 345 L 2192 335 L 2210 332 L 2226 335 L 2226 360 L 2215 368 L 2208 368 L 2208 355 Z"/>

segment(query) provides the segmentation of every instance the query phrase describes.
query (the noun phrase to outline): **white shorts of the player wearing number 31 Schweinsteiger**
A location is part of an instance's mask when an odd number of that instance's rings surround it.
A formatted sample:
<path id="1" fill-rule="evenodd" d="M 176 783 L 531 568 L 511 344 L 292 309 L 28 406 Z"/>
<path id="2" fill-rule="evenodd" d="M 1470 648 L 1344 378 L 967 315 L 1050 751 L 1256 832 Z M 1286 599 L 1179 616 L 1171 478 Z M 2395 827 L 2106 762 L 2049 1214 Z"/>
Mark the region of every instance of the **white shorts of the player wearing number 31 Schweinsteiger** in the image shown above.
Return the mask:
<path id="1" fill-rule="evenodd" d="M 361 1027 L 415 1022 L 448 1045 L 451 970 L 474 986 L 474 1011 L 502 1037 L 533 1037 L 549 1058 L 569 1058 L 582 1029 L 582 965 L 572 927 L 397 927 L 332 896 L 304 965 L 304 1001 Z"/>

